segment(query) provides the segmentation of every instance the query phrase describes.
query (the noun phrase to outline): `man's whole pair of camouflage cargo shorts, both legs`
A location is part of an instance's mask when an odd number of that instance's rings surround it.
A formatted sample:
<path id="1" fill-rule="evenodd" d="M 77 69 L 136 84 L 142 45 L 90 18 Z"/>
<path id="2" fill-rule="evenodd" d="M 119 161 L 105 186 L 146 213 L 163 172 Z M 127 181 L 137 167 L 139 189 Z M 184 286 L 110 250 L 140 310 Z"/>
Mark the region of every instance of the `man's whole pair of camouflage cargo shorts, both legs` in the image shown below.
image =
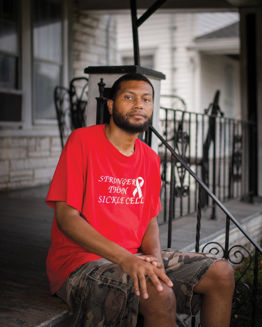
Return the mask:
<path id="1" fill-rule="evenodd" d="M 196 315 L 201 294 L 193 293 L 193 286 L 218 259 L 210 253 L 162 250 L 166 274 L 174 284 L 177 313 Z M 132 279 L 106 259 L 78 267 L 56 294 L 71 308 L 76 327 L 136 326 L 139 297 Z"/>

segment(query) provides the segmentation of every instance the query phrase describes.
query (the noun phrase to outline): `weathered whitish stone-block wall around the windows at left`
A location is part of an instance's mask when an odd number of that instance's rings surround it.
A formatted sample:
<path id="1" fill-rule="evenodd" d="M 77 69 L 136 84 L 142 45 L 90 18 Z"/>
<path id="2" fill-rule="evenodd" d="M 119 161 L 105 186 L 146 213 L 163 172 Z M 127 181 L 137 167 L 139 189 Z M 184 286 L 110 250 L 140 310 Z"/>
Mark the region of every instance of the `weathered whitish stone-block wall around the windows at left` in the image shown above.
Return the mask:
<path id="1" fill-rule="evenodd" d="M 87 66 L 116 64 L 114 16 L 75 12 L 72 20 L 73 77 L 85 76 Z M 23 92 L 26 91 L 23 89 Z M 24 107 L 23 112 L 29 111 L 28 116 L 31 116 L 33 109 L 29 107 Z M 0 190 L 49 183 L 60 154 L 61 141 L 56 121 L 41 125 L 22 121 L 19 129 L 5 124 L 0 130 Z"/>

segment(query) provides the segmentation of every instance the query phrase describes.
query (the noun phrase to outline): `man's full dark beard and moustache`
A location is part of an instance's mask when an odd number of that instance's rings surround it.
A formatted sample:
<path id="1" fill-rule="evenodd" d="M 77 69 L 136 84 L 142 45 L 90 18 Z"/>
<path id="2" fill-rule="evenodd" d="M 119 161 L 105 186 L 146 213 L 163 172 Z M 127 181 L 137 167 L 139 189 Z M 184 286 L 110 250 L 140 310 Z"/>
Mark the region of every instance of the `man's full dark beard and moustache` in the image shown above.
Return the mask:
<path id="1" fill-rule="evenodd" d="M 132 113 L 132 112 L 130 112 Z M 130 114 L 129 113 L 129 114 Z M 137 134 L 146 131 L 149 126 L 152 124 L 152 115 L 146 116 L 146 119 L 143 123 L 131 123 L 129 120 L 129 114 L 123 116 L 121 112 L 113 104 L 112 118 L 117 127 L 129 134 Z"/>

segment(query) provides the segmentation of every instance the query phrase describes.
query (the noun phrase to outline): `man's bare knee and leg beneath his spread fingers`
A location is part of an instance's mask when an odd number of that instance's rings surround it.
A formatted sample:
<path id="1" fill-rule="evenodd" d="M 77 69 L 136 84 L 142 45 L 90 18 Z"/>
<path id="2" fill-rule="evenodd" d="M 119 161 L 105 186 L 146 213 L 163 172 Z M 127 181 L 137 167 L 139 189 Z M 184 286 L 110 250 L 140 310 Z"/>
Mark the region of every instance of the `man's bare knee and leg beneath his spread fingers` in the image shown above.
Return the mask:
<path id="1" fill-rule="evenodd" d="M 160 281 L 161 282 L 161 281 Z M 163 290 L 157 291 L 148 279 L 148 299 L 140 296 L 139 312 L 144 318 L 144 327 L 175 327 L 176 297 L 171 287 L 161 282 Z"/>

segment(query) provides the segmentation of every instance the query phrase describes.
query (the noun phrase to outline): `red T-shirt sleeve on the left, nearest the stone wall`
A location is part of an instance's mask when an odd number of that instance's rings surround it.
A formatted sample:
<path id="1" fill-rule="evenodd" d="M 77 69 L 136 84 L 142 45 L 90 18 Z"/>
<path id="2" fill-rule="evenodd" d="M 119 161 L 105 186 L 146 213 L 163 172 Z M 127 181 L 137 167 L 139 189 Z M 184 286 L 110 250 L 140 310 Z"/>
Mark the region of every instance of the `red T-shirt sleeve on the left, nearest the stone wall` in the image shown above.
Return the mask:
<path id="1" fill-rule="evenodd" d="M 87 162 L 86 162 L 87 164 Z M 79 212 L 82 210 L 84 189 L 83 148 L 77 130 L 73 131 L 61 153 L 46 203 L 55 209 L 55 201 L 66 201 Z"/>

